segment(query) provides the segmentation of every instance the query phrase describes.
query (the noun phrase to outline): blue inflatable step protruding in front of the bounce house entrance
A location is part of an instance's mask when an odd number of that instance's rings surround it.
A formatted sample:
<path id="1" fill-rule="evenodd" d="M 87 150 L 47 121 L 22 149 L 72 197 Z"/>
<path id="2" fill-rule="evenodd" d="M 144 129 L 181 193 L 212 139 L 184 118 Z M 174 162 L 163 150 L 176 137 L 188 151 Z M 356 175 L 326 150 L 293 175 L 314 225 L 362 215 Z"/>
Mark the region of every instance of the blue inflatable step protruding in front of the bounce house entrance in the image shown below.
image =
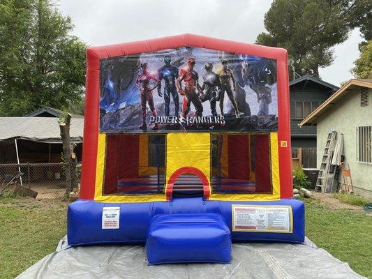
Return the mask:
<path id="1" fill-rule="evenodd" d="M 217 213 L 158 214 L 146 240 L 149 265 L 231 261 L 231 234 Z"/>

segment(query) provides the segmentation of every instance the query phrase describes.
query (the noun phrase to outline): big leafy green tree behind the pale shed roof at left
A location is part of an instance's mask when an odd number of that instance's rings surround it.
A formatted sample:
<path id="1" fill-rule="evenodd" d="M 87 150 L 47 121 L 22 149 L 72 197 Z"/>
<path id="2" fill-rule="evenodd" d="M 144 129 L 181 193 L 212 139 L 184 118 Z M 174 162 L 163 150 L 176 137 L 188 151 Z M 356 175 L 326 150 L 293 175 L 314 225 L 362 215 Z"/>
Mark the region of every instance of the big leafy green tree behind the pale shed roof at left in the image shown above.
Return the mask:
<path id="1" fill-rule="evenodd" d="M 0 116 L 81 110 L 87 45 L 72 30 L 50 0 L 1 1 Z"/>

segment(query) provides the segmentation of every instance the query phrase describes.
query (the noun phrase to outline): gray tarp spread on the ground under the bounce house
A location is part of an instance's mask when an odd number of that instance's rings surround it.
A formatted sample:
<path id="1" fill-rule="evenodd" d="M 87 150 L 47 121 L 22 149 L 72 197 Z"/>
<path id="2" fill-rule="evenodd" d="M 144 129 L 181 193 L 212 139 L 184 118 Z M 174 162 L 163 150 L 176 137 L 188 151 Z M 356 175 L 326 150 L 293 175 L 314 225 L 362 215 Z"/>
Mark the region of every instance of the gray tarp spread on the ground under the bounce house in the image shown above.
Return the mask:
<path id="1" fill-rule="evenodd" d="M 144 246 L 65 246 L 66 240 L 62 239 L 56 252 L 40 259 L 16 279 L 364 278 L 308 239 L 304 245 L 235 243 L 231 264 L 147 266 Z"/>

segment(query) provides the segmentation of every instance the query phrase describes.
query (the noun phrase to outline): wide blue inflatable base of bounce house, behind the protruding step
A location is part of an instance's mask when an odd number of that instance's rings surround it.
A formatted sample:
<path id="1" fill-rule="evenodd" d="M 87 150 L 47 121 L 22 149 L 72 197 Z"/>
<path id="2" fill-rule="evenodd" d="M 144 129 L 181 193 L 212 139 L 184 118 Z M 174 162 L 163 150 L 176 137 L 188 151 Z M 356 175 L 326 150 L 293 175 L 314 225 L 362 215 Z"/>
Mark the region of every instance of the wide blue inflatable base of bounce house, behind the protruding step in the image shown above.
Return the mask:
<path id="1" fill-rule="evenodd" d="M 244 232 L 232 229 L 232 206 L 290 206 L 291 232 Z M 119 209 L 118 228 L 103 228 L 103 208 Z M 144 243 L 151 218 L 158 214 L 218 213 L 225 219 L 234 242 L 304 242 L 304 203 L 296 199 L 270 202 L 205 201 L 202 197 L 174 198 L 172 202 L 112 204 L 78 199 L 68 206 L 70 246 Z M 110 217 L 110 216 L 109 216 Z"/>

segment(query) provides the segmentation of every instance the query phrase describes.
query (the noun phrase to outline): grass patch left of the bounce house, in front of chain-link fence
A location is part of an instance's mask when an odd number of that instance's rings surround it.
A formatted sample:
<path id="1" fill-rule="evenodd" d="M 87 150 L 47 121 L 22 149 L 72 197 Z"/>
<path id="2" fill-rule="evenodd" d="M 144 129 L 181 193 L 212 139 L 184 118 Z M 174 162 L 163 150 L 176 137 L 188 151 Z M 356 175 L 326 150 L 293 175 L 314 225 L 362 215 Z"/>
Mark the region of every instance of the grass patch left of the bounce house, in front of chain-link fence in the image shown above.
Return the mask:
<path id="1" fill-rule="evenodd" d="M 0 278 L 15 278 L 57 248 L 66 234 L 67 202 L 0 199 Z"/>

